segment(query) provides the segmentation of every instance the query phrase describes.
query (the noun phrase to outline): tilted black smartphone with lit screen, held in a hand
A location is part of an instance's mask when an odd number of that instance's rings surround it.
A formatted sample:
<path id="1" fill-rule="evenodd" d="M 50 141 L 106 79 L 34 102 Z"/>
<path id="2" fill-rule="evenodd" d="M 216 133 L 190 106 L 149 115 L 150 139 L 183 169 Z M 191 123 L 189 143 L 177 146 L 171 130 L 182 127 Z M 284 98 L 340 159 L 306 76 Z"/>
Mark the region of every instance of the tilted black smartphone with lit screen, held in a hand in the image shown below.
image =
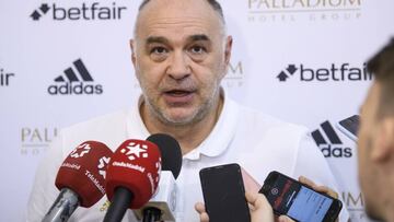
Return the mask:
<path id="1" fill-rule="evenodd" d="M 277 215 L 286 214 L 296 221 L 332 222 L 343 207 L 340 200 L 276 171 L 269 173 L 259 192 L 267 197 Z"/>

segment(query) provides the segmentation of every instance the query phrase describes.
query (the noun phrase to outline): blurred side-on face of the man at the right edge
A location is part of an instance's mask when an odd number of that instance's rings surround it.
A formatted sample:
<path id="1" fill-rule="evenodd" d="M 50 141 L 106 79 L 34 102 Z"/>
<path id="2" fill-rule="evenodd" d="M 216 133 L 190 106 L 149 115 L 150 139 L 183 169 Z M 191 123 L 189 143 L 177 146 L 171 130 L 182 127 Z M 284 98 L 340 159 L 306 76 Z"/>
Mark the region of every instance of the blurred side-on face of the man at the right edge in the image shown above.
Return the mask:
<path id="1" fill-rule="evenodd" d="M 367 213 L 378 219 L 379 206 L 384 186 L 378 165 L 372 159 L 372 151 L 376 149 L 376 133 L 379 133 L 378 108 L 380 85 L 374 82 L 370 87 L 360 114 L 360 129 L 358 132 L 358 167 L 359 182 L 364 197 Z"/>

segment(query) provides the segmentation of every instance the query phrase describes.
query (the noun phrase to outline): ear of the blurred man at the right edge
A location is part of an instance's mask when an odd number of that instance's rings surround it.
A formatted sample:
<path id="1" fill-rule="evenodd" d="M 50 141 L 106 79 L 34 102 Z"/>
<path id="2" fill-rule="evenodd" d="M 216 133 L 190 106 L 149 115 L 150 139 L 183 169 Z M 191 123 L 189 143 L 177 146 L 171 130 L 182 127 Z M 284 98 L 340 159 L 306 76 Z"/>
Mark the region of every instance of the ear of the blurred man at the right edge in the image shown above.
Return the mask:
<path id="1" fill-rule="evenodd" d="M 384 117 L 379 125 L 371 159 L 384 162 L 394 157 L 394 117 Z"/>

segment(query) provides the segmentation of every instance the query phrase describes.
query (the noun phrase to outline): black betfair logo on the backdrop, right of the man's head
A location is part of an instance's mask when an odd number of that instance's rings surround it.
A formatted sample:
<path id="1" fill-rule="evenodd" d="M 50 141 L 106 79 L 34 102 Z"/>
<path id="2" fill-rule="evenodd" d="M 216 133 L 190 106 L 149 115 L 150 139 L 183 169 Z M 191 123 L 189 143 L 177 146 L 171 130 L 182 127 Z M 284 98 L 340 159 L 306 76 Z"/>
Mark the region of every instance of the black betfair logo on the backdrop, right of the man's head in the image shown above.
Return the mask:
<path id="1" fill-rule="evenodd" d="M 276 78 L 279 82 L 289 81 L 290 78 L 301 82 L 347 82 L 347 81 L 371 81 L 372 74 L 367 71 L 367 65 L 362 67 L 350 66 L 350 63 L 331 63 L 328 67 L 311 68 L 303 63 L 288 65 Z"/>

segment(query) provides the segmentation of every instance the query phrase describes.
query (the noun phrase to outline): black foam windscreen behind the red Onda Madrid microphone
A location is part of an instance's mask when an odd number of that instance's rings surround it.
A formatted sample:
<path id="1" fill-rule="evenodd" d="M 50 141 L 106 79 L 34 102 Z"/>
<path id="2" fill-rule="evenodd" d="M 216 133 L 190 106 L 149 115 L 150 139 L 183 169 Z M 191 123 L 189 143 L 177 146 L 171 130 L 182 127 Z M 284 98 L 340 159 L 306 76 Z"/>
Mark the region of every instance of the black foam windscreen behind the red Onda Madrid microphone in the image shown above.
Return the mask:
<path id="1" fill-rule="evenodd" d="M 170 135 L 164 133 L 151 135 L 147 140 L 159 147 L 162 156 L 162 171 L 171 171 L 176 179 L 182 167 L 179 143 Z"/>

